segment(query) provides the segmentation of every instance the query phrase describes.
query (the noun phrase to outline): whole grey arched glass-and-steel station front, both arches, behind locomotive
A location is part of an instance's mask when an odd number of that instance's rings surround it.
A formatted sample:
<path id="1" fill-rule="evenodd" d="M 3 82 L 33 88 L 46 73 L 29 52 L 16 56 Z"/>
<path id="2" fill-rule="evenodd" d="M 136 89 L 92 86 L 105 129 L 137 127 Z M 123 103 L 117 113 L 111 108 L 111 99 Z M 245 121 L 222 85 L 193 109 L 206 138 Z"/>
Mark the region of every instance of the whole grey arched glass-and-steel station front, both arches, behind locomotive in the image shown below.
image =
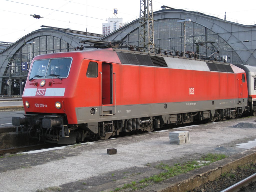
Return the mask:
<path id="1" fill-rule="evenodd" d="M 163 6 L 153 13 L 154 44 L 162 51 L 195 52 L 201 58 L 217 59 L 256 66 L 256 25 L 243 25 L 224 19 Z M 191 22 L 179 23 L 190 19 Z M 184 31 L 185 45 L 184 46 Z M 121 40 L 135 47 L 139 45 L 139 19 L 123 25 L 104 36 L 69 29 L 42 26 L 42 29 L 0 49 L 0 95 L 21 95 L 28 70 L 23 64 L 40 54 L 75 51 L 81 40 Z M 30 43 L 33 42 L 33 43 Z M 201 44 L 201 42 L 204 42 Z M 1 42 L 0 42 L 1 45 Z M 216 56 L 217 54 L 217 56 Z"/>

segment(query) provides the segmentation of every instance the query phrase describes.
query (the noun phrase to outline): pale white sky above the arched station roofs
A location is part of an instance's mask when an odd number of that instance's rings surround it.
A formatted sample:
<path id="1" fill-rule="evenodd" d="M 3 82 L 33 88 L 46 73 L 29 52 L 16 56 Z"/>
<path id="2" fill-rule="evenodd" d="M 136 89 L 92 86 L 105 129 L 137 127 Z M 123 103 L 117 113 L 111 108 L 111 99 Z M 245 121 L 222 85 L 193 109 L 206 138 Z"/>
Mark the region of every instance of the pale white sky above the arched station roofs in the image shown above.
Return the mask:
<path id="1" fill-rule="evenodd" d="M 255 1 L 153 0 L 152 4 L 154 11 L 167 5 L 222 19 L 226 11 L 226 20 L 256 24 Z M 118 9 L 117 17 L 123 18 L 123 22 L 130 22 L 140 15 L 140 0 L 0 0 L 0 41 L 15 42 L 25 34 L 40 29 L 41 25 L 81 31 L 86 31 L 87 28 L 90 33 L 102 34 L 102 23 L 106 23 L 107 18 L 114 17 L 114 8 Z M 35 19 L 30 14 L 44 18 Z"/>

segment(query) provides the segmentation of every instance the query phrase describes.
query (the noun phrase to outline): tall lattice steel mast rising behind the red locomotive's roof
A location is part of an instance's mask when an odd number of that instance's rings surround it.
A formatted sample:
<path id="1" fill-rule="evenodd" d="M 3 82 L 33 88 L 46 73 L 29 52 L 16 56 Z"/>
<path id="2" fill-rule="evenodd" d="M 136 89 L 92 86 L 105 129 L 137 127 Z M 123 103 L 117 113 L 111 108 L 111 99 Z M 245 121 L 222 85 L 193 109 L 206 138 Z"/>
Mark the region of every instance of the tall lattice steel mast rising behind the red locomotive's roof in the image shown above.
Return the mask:
<path id="1" fill-rule="evenodd" d="M 139 47 L 154 52 L 154 20 L 152 0 L 140 0 Z"/>

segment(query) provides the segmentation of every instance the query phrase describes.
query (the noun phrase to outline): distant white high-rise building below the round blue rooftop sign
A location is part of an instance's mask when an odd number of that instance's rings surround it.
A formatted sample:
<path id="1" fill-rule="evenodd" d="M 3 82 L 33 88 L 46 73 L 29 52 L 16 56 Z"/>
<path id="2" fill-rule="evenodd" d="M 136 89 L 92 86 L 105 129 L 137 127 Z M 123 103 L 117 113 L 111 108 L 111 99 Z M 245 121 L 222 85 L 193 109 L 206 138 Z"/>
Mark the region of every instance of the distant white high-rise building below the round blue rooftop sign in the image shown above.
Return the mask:
<path id="1" fill-rule="evenodd" d="M 108 18 L 108 23 L 102 23 L 102 35 L 108 35 L 119 29 L 123 24 L 123 18 Z"/>

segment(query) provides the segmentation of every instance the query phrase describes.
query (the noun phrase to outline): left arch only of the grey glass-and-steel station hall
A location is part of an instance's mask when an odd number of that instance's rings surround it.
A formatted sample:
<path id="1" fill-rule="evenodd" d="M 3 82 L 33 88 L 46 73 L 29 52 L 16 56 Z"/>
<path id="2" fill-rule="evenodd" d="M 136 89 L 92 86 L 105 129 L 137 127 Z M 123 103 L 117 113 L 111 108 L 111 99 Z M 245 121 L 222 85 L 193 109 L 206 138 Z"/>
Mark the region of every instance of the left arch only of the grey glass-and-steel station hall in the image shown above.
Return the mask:
<path id="1" fill-rule="evenodd" d="M 41 26 L 15 43 L 0 42 L 0 95 L 22 95 L 32 59 L 37 55 L 76 51 L 81 40 L 99 40 L 101 34 Z M 1 46 L 2 45 L 2 46 Z M 79 48 L 77 48 L 79 47 Z"/>

